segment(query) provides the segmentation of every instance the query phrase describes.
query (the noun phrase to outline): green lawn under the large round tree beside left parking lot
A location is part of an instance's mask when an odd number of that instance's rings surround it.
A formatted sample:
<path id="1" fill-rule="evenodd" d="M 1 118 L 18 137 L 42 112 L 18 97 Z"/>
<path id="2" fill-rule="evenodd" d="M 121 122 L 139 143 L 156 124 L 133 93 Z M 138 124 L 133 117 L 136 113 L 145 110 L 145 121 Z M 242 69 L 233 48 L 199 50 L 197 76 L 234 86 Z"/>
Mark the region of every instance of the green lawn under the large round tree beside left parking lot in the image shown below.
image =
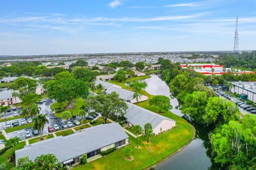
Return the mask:
<path id="1" fill-rule="evenodd" d="M 75 108 L 73 109 L 67 109 L 67 111 L 70 111 L 73 115 L 77 115 L 79 110 L 80 110 L 80 107 L 83 105 L 83 102 L 84 102 L 84 99 L 82 98 L 78 98 L 76 99 L 76 103 L 74 103 L 74 106 L 76 106 Z M 63 102 L 61 107 L 65 107 L 67 106 L 67 103 L 66 102 Z M 54 111 L 54 108 L 57 108 L 57 107 L 60 107 L 60 104 L 55 102 L 51 105 L 51 109 L 52 111 Z M 64 112 L 64 111 L 63 111 Z M 61 117 L 63 112 L 60 112 L 60 113 L 55 113 L 55 116 L 57 117 Z"/>

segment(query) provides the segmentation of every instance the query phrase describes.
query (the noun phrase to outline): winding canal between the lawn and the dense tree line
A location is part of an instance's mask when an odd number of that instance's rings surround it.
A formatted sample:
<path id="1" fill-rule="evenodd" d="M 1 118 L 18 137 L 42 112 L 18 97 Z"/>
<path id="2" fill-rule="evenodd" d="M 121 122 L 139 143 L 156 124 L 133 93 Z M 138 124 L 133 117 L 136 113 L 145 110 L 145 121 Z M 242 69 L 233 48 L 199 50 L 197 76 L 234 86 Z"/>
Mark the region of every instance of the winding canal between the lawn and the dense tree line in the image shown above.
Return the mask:
<path id="1" fill-rule="evenodd" d="M 151 78 L 143 81 L 148 83 L 146 91 L 149 94 L 170 97 L 169 87 L 158 77 L 158 75 L 151 75 Z M 178 108 L 179 103 L 176 98 L 171 99 L 171 104 L 173 106 L 171 112 L 187 120 Z M 195 124 L 194 122 L 189 123 L 193 124 L 196 129 L 195 139 L 186 148 L 157 165 L 155 169 L 219 169 L 217 165 L 213 165 L 211 163 L 211 145 L 209 141 L 210 130 L 201 125 Z"/>

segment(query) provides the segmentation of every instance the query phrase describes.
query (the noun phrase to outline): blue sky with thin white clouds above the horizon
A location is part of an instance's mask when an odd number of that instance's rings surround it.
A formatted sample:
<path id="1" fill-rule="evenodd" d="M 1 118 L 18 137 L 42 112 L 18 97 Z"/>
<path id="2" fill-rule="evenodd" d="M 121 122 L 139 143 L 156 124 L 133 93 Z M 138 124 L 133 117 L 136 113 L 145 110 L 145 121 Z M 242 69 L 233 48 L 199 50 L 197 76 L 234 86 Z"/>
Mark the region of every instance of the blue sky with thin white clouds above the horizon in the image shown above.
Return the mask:
<path id="1" fill-rule="evenodd" d="M 1 1 L 0 55 L 256 49 L 256 0 Z"/>

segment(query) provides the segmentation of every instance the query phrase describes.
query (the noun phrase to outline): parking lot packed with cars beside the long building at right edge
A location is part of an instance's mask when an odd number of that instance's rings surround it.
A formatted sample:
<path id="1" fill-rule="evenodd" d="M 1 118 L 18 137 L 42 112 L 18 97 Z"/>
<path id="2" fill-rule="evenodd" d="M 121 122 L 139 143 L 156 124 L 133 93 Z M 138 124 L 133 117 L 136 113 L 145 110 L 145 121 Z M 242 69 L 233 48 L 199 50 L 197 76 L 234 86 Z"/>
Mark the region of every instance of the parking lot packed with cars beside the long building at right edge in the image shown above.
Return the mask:
<path id="1" fill-rule="evenodd" d="M 243 115 L 246 115 L 246 114 L 254 114 L 255 115 L 256 114 L 256 107 L 254 107 L 253 105 L 247 104 L 242 99 L 232 97 L 231 94 L 227 94 L 225 92 L 225 90 L 221 90 L 220 88 L 213 88 L 211 86 L 209 88 L 213 89 L 215 91 L 215 93 L 217 94 L 217 96 L 226 98 L 226 99 L 232 101 L 233 103 L 235 103 L 238 106 L 239 111 Z"/>

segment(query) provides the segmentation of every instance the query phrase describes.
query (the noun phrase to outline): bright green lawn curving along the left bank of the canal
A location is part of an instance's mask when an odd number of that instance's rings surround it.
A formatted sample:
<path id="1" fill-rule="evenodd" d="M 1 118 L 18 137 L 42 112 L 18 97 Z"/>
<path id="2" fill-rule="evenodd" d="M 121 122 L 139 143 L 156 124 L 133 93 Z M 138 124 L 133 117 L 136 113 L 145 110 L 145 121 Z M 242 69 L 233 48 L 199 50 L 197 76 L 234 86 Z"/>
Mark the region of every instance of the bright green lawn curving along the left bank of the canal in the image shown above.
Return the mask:
<path id="1" fill-rule="evenodd" d="M 124 82 L 109 82 L 119 86 L 122 85 L 121 87 L 124 89 L 129 89 L 129 87 L 125 86 Z M 144 90 L 141 90 L 141 94 L 148 96 L 149 99 L 153 97 L 153 95 L 148 94 Z M 143 101 L 137 105 L 156 113 L 159 111 L 158 107 L 149 106 L 148 101 Z M 106 157 L 75 167 L 74 169 L 145 169 L 159 162 L 163 158 L 173 154 L 173 152 L 179 150 L 193 138 L 193 126 L 191 126 L 183 118 L 171 112 L 163 113 L 161 115 L 175 120 L 178 128 L 170 130 L 161 135 L 157 135 L 155 138 L 153 138 L 151 140 L 151 151 L 148 151 L 149 146 L 147 139 L 143 135 L 139 137 L 140 149 L 136 148 L 136 139 L 130 137 L 130 147 L 132 148 L 131 155 L 134 157 L 134 160 L 129 162 L 125 159 L 124 147 L 117 149 Z"/>

